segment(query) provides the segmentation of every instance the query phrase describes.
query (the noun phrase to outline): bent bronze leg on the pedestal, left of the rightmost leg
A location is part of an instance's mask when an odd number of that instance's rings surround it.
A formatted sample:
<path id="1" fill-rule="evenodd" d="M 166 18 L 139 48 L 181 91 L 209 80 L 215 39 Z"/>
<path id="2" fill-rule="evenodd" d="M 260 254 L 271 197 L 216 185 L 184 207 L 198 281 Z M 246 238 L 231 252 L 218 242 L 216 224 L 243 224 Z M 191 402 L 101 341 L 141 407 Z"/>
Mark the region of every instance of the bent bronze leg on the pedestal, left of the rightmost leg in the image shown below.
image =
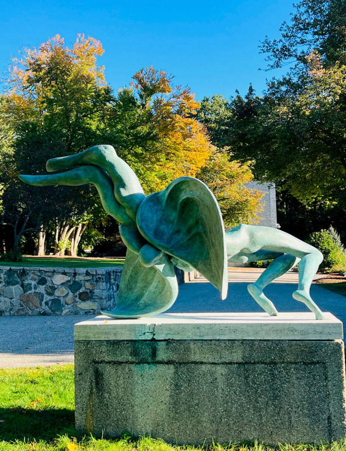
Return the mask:
<path id="1" fill-rule="evenodd" d="M 274 304 L 263 293 L 263 289 L 269 285 L 274 279 L 282 276 L 289 271 L 297 263 L 297 258 L 289 254 L 280 254 L 274 257 L 274 260 L 270 263 L 268 268 L 259 276 L 254 284 L 248 285 L 248 291 L 255 301 L 265 310 L 269 315 L 276 316 L 277 310 Z M 251 260 L 256 261 L 255 254 L 252 254 Z M 263 259 L 263 250 L 259 251 L 260 259 Z M 273 252 L 268 252 L 265 259 L 273 258 Z M 259 258 L 257 258 L 259 260 Z"/>

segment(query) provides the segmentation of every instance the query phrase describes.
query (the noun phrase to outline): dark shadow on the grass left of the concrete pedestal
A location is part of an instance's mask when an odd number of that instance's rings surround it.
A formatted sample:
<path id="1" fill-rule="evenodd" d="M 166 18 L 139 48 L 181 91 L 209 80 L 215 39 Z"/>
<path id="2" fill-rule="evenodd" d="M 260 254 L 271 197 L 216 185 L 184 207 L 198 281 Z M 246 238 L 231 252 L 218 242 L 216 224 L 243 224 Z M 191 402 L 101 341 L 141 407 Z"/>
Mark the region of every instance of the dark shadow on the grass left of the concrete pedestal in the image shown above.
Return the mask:
<path id="1" fill-rule="evenodd" d="M 0 441 L 51 441 L 58 435 L 76 436 L 74 410 L 0 408 Z"/>

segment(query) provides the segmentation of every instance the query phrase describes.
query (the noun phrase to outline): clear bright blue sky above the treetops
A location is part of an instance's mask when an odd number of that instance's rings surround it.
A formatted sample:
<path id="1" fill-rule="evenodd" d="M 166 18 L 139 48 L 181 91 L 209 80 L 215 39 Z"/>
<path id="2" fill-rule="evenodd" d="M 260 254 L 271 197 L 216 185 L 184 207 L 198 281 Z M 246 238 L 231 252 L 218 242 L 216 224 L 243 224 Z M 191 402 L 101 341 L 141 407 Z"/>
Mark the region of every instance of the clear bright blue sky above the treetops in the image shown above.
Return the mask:
<path id="1" fill-rule="evenodd" d="M 0 0 L 0 73 L 11 55 L 60 34 L 66 43 L 78 33 L 102 42 L 107 82 L 115 89 L 130 83 L 142 67 L 153 65 L 188 85 L 197 100 L 242 95 L 252 83 L 257 93 L 265 79 L 280 76 L 265 68 L 259 42 L 279 36 L 293 0 L 235 1 L 79 1 Z M 0 85 L 3 89 L 3 85 Z"/>

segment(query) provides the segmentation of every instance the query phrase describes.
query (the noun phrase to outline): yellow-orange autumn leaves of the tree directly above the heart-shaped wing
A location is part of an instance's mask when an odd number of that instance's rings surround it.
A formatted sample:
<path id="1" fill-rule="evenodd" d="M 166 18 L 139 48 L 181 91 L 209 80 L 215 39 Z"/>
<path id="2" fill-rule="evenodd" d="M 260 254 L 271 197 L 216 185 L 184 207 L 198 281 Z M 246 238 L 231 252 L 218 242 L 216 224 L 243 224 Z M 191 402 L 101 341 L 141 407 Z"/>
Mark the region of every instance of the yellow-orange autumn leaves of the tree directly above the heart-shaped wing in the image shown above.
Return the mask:
<path id="1" fill-rule="evenodd" d="M 140 156 L 142 167 L 148 165 L 141 177 L 147 192 L 164 189 L 177 177 L 194 177 L 212 154 L 209 137 L 195 119 L 199 104 L 194 94 L 188 87 L 173 86 L 172 80 L 150 66 L 131 83 L 157 133 L 149 152 Z"/>

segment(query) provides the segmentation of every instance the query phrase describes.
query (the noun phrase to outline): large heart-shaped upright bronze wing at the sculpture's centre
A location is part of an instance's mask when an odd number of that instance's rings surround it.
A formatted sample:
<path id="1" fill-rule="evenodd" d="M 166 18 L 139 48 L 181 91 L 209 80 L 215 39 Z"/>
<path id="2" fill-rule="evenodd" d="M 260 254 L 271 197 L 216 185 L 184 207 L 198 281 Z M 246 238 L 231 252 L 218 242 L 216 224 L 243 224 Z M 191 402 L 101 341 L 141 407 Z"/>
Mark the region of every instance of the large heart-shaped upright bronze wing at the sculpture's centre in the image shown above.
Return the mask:
<path id="1" fill-rule="evenodd" d="M 180 177 L 146 197 L 137 211 L 143 237 L 200 272 L 227 296 L 227 253 L 219 206 L 200 180 Z"/>

